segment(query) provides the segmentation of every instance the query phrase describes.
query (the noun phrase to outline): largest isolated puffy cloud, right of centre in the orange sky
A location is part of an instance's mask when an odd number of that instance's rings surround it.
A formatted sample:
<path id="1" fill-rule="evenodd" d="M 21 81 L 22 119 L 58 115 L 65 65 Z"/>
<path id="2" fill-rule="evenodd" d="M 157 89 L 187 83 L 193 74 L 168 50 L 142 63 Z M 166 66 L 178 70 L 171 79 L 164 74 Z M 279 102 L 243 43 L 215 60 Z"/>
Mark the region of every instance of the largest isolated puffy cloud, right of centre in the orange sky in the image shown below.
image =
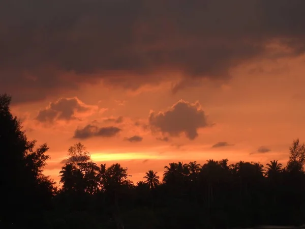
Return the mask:
<path id="1" fill-rule="evenodd" d="M 208 127 L 206 116 L 199 102 L 179 100 L 171 108 L 162 112 L 151 112 L 148 118 L 151 131 L 177 137 L 185 133 L 194 140 L 199 128 Z"/>

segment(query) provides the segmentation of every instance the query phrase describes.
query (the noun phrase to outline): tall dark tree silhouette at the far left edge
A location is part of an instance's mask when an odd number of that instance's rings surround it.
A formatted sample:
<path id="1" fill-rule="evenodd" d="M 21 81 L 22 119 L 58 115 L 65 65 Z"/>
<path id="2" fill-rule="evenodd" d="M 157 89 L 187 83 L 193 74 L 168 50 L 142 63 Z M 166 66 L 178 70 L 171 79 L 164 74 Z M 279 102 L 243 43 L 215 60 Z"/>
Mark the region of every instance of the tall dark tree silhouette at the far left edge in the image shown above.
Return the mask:
<path id="1" fill-rule="evenodd" d="M 10 104 L 10 96 L 0 95 L 0 220 L 26 226 L 34 215 L 42 214 L 40 208 L 47 207 L 55 189 L 54 182 L 42 174 L 49 158 L 45 155 L 48 146 L 34 150 L 36 141 L 27 140 L 21 122 L 11 113 Z"/>

